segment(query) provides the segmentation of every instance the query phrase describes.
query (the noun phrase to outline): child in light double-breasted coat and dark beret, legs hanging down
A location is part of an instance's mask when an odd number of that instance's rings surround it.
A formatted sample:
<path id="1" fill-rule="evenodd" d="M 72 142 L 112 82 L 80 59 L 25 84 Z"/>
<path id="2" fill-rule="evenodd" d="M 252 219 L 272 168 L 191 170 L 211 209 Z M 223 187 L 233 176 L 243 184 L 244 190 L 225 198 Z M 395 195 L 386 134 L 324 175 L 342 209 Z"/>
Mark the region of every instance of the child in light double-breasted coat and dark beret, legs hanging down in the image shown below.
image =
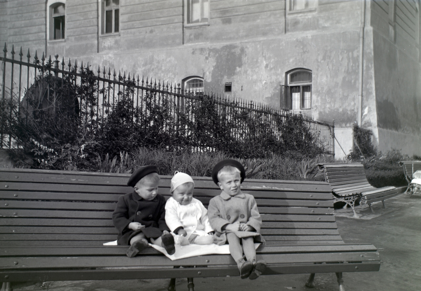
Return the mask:
<path id="1" fill-rule="evenodd" d="M 237 263 L 242 279 L 256 279 L 266 269 L 266 262 L 256 261 L 254 242 L 264 243 L 259 234 L 262 224 L 253 195 L 242 193 L 244 167 L 236 160 L 223 160 L 212 170 L 212 179 L 222 192 L 210 199 L 209 222 L 213 229 L 226 236 L 229 252 Z M 243 259 L 243 252 L 247 261 Z"/>

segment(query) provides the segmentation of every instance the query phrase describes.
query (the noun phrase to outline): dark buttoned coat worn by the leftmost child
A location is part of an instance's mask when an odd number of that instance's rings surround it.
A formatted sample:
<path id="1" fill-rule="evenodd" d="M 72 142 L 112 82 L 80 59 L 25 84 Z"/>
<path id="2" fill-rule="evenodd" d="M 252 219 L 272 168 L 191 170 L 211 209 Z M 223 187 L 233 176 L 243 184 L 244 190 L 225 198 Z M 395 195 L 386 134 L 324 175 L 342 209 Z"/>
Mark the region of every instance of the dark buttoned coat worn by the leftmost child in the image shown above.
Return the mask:
<path id="1" fill-rule="evenodd" d="M 165 223 L 165 198 L 159 194 L 150 201 L 141 198 L 136 191 L 120 196 L 112 222 L 119 232 L 119 245 L 130 245 L 131 238 L 140 232 L 147 238 L 159 238 L 163 230 L 170 231 Z M 139 222 L 145 227 L 134 231 L 128 228 L 130 222 Z"/>

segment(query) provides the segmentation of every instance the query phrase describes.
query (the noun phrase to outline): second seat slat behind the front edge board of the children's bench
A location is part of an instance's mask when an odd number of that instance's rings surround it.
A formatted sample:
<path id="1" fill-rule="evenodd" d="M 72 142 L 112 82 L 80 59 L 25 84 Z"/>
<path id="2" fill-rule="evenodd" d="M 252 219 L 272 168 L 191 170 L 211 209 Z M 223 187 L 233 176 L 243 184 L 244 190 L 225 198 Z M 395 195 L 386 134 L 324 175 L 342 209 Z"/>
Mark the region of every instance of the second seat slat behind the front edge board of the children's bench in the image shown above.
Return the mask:
<path id="1" fill-rule="evenodd" d="M 3 247 L 0 248 L 0 256 L 110 256 L 125 255 L 127 246 L 86 246 L 86 247 Z M 354 251 L 377 251 L 369 244 L 340 244 L 324 246 L 259 246 L 257 254 L 288 254 L 288 253 L 326 253 L 326 252 L 354 252 Z M 155 248 L 146 248 L 142 254 L 158 254 Z"/>

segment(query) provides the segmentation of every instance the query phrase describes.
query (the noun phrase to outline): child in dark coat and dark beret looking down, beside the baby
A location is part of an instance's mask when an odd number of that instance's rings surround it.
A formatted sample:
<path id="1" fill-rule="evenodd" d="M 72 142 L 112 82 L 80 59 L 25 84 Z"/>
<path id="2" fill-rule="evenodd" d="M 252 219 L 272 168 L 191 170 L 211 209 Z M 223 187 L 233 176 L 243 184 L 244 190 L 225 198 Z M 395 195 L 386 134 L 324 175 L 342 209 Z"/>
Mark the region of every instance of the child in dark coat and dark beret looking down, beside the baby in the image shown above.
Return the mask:
<path id="1" fill-rule="evenodd" d="M 175 252 L 174 238 L 165 223 L 165 198 L 158 194 L 160 177 L 157 166 L 149 165 L 133 172 L 127 184 L 134 191 L 120 196 L 112 214 L 119 231 L 118 245 L 130 245 L 127 256 L 136 256 L 149 241 Z"/>

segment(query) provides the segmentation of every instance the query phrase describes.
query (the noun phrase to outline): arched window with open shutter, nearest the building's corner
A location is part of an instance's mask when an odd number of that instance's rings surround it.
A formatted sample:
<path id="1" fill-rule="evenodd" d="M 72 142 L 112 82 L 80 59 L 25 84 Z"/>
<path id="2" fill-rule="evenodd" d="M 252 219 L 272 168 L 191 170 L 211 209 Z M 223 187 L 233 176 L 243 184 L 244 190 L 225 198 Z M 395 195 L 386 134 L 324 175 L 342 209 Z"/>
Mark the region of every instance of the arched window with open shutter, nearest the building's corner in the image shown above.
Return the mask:
<path id="1" fill-rule="evenodd" d="M 287 110 L 311 109 L 312 71 L 297 68 L 285 73 L 287 85 L 282 86 L 281 106 Z"/>

